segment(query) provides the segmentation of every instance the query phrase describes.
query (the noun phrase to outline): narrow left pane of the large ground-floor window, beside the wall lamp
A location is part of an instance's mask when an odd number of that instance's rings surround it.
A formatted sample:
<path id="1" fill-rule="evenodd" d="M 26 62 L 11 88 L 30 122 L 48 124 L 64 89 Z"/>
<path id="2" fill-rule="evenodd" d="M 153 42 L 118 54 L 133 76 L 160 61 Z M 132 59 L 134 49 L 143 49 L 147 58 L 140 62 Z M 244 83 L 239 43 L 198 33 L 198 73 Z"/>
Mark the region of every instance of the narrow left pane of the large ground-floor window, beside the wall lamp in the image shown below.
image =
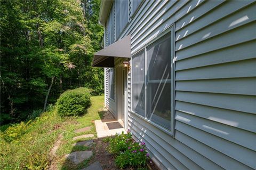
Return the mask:
<path id="1" fill-rule="evenodd" d="M 144 117 L 145 67 L 144 51 L 132 57 L 132 110 Z"/>

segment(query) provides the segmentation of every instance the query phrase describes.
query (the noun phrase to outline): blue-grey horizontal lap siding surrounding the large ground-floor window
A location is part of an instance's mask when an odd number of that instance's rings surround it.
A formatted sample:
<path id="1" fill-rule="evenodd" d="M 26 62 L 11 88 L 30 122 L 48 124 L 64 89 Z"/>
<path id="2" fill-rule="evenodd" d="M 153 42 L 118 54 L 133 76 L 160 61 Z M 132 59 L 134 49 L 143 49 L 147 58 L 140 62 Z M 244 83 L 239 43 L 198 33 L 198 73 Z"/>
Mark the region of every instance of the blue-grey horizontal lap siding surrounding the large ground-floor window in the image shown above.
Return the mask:
<path id="1" fill-rule="evenodd" d="M 130 17 L 120 38 L 131 35 L 132 54 L 175 23 L 174 137 L 131 112 L 128 72 L 128 128 L 161 169 L 256 169 L 255 9 L 254 1 L 145 1 Z"/>

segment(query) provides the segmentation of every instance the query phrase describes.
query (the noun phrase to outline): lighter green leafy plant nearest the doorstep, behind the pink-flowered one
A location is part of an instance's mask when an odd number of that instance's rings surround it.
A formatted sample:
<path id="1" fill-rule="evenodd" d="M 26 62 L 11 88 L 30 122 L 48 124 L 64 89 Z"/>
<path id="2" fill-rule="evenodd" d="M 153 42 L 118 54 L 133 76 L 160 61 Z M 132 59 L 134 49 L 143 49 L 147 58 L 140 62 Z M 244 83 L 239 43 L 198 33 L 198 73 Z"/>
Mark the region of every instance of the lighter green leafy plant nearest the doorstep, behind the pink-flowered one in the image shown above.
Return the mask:
<path id="1" fill-rule="evenodd" d="M 109 145 L 108 145 L 108 151 L 113 154 L 120 154 L 121 152 L 124 152 L 127 150 L 127 148 L 131 145 L 132 143 L 132 134 L 127 133 L 124 134 L 122 132 L 121 134 L 116 134 L 114 138 L 111 138 L 109 140 Z"/>

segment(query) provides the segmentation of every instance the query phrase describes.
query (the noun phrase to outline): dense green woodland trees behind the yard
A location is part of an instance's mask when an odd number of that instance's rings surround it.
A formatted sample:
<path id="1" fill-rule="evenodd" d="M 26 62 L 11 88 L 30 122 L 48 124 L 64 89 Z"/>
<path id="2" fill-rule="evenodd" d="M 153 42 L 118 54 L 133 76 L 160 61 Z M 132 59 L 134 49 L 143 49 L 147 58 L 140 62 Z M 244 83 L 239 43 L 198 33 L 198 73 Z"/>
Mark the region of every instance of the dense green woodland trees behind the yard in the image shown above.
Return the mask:
<path id="1" fill-rule="evenodd" d="M 100 0 L 1 0 L 1 123 L 27 119 L 65 90 L 103 93 Z"/>

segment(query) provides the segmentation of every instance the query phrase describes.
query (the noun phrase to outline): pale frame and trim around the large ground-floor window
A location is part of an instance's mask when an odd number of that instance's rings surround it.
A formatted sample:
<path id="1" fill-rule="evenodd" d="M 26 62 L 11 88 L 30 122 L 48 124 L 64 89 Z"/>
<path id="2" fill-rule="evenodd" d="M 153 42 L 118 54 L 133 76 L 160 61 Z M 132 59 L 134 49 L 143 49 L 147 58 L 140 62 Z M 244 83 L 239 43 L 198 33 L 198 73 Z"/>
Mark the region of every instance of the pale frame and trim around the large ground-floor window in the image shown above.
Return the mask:
<path id="1" fill-rule="evenodd" d="M 157 128 L 159 128 L 159 129 L 161 129 L 163 132 L 165 132 L 165 133 L 167 133 L 167 134 L 169 134 L 169 135 L 171 135 L 171 136 L 173 136 L 174 137 L 174 135 L 175 135 L 175 131 L 174 131 L 174 122 L 175 122 L 175 120 L 174 120 L 174 115 L 175 115 L 175 74 L 174 74 L 174 71 L 175 71 L 175 60 L 174 60 L 174 54 L 175 54 L 175 41 L 174 41 L 174 34 L 175 34 L 175 32 L 174 32 L 174 27 L 175 27 L 175 25 L 173 24 L 173 25 L 171 25 L 170 27 L 168 27 L 168 28 L 166 28 L 165 30 L 163 30 L 161 33 L 159 33 L 157 36 L 155 36 L 155 37 L 153 37 L 152 39 L 150 39 L 150 41 L 148 42 L 148 43 L 146 43 L 145 45 L 143 45 L 141 48 L 140 48 L 140 50 L 138 50 L 138 51 L 136 51 L 136 52 L 134 52 L 133 54 L 132 54 L 132 56 L 134 56 L 134 55 L 136 55 L 136 54 L 138 54 L 138 53 L 140 53 L 142 50 L 145 50 L 145 55 L 144 55 L 144 58 L 145 58 L 145 108 L 144 108 L 144 117 L 143 116 L 141 116 L 140 114 L 138 114 L 137 112 L 135 112 L 135 111 L 133 111 L 133 107 L 132 107 L 132 104 L 133 104 L 133 101 L 132 101 L 132 99 L 133 99 L 133 96 L 132 96 L 132 81 L 133 81 L 133 75 L 132 75 L 132 64 L 133 64 L 133 62 L 132 62 L 132 59 L 133 59 L 133 57 L 131 57 L 131 112 L 132 112 L 132 114 L 134 114 L 134 115 L 136 115 L 136 116 L 138 116 L 139 118 L 141 118 L 141 119 L 143 119 L 143 120 L 145 120 L 146 122 L 148 122 L 149 124 L 151 124 L 151 125 L 154 125 L 155 127 L 157 127 Z M 171 87 L 172 87 L 172 90 L 171 90 L 171 129 L 167 129 L 167 128 L 165 128 L 165 127 L 163 127 L 163 126 L 161 126 L 161 125 L 158 125 L 157 123 L 154 123 L 153 121 L 151 121 L 151 120 L 148 120 L 147 119 L 147 101 L 146 101 L 146 99 L 147 99 L 147 84 L 146 84 L 146 82 L 147 82 L 147 68 L 146 68 L 146 63 L 147 63 L 147 50 L 146 50 L 146 48 L 148 47 L 148 46 L 150 46 L 151 44 L 154 44 L 158 39 L 160 39 L 160 38 L 162 38 L 164 35 L 166 35 L 166 34 L 169 34 L 169 33 L 171 33 Z"/>

